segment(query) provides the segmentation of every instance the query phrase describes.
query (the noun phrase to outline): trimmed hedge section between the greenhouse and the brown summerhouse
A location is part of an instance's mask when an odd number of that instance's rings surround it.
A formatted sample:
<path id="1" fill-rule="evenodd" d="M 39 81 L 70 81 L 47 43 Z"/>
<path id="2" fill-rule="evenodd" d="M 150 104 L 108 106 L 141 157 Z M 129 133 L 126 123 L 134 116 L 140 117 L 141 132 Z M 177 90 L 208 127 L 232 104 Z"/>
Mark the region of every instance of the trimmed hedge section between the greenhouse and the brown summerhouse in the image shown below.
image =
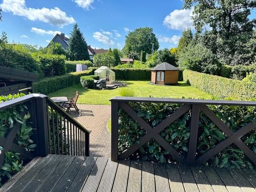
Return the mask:
<path id="1" fill-rule="evenodd" d="M 151 69 L 134 69 L 134 68 L 111 68 L 116 73 L 116 80 L 150 80 Z"/>

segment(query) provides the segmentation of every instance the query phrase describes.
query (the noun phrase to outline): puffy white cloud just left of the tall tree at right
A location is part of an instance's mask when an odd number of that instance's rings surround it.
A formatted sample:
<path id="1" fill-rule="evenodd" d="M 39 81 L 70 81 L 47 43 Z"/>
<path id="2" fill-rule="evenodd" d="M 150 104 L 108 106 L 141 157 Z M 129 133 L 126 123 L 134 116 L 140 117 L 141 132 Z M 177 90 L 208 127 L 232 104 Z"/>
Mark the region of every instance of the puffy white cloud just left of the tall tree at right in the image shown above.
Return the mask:
<path id="1" fill-rule="evenodd" d="M 183 30 L 184 28 L 193 28 L 193 10 L 174 10 L 164 18 L 163 24 L 170 29 Z"/>

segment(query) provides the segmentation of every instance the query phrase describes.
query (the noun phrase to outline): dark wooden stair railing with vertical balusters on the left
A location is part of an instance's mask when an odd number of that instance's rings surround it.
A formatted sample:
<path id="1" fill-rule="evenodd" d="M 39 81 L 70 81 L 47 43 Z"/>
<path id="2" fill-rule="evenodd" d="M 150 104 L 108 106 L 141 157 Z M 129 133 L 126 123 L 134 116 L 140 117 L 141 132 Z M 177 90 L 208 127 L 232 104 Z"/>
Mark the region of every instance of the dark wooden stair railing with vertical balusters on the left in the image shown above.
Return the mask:
<path id="1" fill-rule="evenodd" d="M 24 104 L 31 117 L 31 127 L 34 128 L 31 140 L 37 147 L 34 151 L 25 151 L 15 144 L 14 138 L 21 124 L 15 122 L 6 137 L 0 137 L 0 165 L 5 152 L 12 150 L 26 158 L 47 156 L 48 154 L 89 156 L 89 131 L 73 119 L 60 106 L 45 95 L 30 94 L 0 103 L 0 111 Z M 20 115 L 24 117 L 27 111 Z"/>

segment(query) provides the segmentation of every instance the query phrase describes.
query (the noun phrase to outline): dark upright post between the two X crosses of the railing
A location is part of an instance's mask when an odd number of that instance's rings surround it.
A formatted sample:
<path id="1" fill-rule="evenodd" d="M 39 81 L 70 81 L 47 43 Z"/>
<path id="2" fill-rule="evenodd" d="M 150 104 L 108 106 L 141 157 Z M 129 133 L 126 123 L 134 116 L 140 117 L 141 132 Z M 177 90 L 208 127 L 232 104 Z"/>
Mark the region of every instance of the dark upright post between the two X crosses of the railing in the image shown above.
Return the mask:
<path id="1" fill-rule="evenodd" d="M 196 143 L 197 143 L 197 134 L 198 134 L 199 114 L 200 114 L 200 105 L 193 105 L 191 125 L 190 125 L 190 138 L 189 138 L 188 154 L 187 154 L 188 165 L 195 164 L 195 152 L 196 152 Z"/>

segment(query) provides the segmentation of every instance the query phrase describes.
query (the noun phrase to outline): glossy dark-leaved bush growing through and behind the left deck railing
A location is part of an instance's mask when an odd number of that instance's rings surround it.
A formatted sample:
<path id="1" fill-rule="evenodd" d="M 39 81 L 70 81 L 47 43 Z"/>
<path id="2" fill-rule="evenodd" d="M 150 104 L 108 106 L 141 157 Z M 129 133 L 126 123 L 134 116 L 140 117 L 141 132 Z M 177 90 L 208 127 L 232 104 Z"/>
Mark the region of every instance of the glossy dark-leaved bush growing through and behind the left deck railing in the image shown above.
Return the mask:
<path id="1" fill-rule="evenodd" d="M 21 96 L 24 96 L 24 94 L 0 96 L 0 103 Z M 27 109 L 27 106 L 25 106 L 24 104 L 19 104 L 1 110 L 0 137 L 6 137 L 7 133 L 13 129 L 13 126 L 16 122 L 22 122 L 22 124 L 18 127 L 18 132 L 15 135 L 13 143 L 24 148 L 24 151 L 34 151 L 34 148 L 37 145 L 33 144 L 34 142 L 31 140 L 33 128 L 31 127 L 31 123 L 29 122 L 29 111 L 25 114 L 24 118 L 20 117 L 19 115 L 25 109 Z M 3 147 L 0 146 L 0 151 L 2 152 L 2 150 Z M 19 153 L 14 153 L 11 149 L 5 153 L 4 162 L 2 165 L 0 165 L 0 185 L 2 185 L 3 182 L 5 182 L 7 179 L 11 179 L 12 175 L 19 172 L 23 168 L 24 160 L 25 158 L 23 156 L 21 156 Z"/>

